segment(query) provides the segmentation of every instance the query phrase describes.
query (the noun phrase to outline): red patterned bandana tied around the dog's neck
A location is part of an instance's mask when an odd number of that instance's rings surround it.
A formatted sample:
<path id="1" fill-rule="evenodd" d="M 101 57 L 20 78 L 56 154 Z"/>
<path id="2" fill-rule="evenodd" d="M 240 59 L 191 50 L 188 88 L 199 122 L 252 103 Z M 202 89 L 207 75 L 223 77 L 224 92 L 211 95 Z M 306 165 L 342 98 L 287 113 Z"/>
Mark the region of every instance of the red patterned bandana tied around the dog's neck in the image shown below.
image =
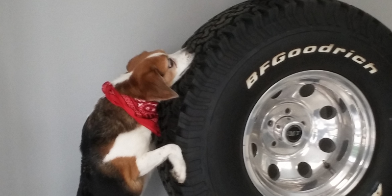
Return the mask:
<path id="1" fill-rule="evenodd" d="M 110 102 L 122 107 L 138 123 L 147 127 L 155 135 L 161 136 L 156 111 L 157 102 L 121 95 L 110 82 L 103 83 L 102 92 Z"/>

